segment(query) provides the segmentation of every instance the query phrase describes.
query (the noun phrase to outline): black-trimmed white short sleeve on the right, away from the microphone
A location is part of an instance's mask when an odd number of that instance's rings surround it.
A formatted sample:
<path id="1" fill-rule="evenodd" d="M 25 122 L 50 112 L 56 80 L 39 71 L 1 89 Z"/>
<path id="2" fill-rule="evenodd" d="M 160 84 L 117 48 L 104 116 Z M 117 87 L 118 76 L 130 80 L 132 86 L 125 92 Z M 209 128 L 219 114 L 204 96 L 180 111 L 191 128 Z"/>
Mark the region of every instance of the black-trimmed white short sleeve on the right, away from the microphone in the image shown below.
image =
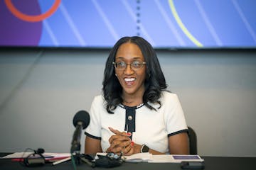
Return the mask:
<path id="1" fill-rule="evenodd" d="M 166 109 L 165 120 L 168 136 L 176 135 L 180 132 L 187 132 L 188 127 L 178 96 L 165 92 L 164 105 Z"/>

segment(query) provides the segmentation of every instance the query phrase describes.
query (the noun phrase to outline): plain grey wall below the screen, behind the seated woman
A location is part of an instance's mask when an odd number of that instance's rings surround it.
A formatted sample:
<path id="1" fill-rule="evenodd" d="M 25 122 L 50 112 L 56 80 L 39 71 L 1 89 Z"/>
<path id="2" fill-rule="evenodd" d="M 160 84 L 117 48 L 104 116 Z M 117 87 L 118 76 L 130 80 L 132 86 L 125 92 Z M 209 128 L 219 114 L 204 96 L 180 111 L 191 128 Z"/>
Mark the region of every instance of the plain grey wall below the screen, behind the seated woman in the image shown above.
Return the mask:
<path id="1" fill-rule="evenodd" d="M 89 111 L 101 93 L 108 52 L 1 48 L 0 152 L 69 152 L 73 116 Z M 157 54 L 169 90 L 196 130 L 198 154 L 256 157 L 255 50 Z"/>

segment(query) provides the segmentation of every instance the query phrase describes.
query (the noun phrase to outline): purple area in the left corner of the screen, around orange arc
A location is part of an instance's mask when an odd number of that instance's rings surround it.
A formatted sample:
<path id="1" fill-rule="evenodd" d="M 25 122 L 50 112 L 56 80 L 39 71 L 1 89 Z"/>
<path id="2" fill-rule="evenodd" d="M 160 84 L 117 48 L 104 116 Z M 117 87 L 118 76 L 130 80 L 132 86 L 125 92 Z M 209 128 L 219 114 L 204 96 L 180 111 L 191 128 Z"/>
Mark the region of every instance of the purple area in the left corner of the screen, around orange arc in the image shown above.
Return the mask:
<path id="1" fill-rule="evenodd" d="M 27 15 L 41 14 L 38 1 L 12 1 L 14 6 Z M 14 16 L 4 0 L 0 1 L 0 45 L 37 46 L 41 38 L 42 22 L 21 21 Z"/>

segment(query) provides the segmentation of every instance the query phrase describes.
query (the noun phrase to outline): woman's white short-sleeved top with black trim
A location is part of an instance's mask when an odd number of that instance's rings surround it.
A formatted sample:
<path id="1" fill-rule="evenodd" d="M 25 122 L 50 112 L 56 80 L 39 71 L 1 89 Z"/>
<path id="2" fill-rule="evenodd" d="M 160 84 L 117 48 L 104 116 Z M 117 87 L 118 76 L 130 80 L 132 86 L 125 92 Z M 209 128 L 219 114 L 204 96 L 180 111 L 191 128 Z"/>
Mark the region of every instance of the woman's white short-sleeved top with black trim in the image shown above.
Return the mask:
<path id="1" fill-rule="evenodd" d="M 159 104 L 152 104 L 156 111 L 150 110 L 145 105 L 139 106 L 136 111 L 135 132 L 132 132 L 132 141 L 159 152 L 169 153 L 168 136 L 186 131 L 187 125 L 181 103 L 176 94 L 163 91 Z M 124 131 L 126 110 L 117 106 L 114 114 L 107 113 L 103 96 L 96 96 L 90 108 L 90 124 L 85 135 L 101 140 L 102 152 L 110 147 L 109 138 L 114 135 L 109 128 L 120 132 Z"/>

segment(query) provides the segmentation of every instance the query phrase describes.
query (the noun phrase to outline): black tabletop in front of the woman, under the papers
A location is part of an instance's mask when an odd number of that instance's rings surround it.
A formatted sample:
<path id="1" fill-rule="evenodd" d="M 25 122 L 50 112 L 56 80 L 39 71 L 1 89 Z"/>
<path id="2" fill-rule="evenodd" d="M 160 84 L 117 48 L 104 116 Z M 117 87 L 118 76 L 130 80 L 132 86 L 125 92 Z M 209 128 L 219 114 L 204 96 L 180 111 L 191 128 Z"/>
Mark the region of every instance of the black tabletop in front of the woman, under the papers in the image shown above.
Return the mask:
<path id="1" fill-rule="evenodd" d="M 4 157 L 6 154 L 0 153 L 0 157 Z M 202 157 L 205 159 L 205 169 L 206 170 L 238 170 L 238 169 L 255 169 L 255 162 L 256 157 Z M 18 162 L 12 162 L 10 159 L 0 159 L 0 169 L 3 170 L 13 170 L 13 169 L 73 169 L 72 162 L 64 162 L 62 164 L 58 164 L 55 166 L 52 166 L 51 164 L 46 164 L 44 166 L 38 166 L 38 167 L 26 167 L 21 166 Z M 106 168 L 99 168 L 95 167 L 92 168 L 88 166 L 87 164 L 80 164 L 77 166 L 77 169 L 106 169 Z M 174 164 L 174 163 L 147 163 L 147 162 L 124 162 L 122 166 L 111 168 L 114 170 L 137 170 L 137 169 L 146 169 L 146 170 L 181 170 L 180 164 Z"/>

